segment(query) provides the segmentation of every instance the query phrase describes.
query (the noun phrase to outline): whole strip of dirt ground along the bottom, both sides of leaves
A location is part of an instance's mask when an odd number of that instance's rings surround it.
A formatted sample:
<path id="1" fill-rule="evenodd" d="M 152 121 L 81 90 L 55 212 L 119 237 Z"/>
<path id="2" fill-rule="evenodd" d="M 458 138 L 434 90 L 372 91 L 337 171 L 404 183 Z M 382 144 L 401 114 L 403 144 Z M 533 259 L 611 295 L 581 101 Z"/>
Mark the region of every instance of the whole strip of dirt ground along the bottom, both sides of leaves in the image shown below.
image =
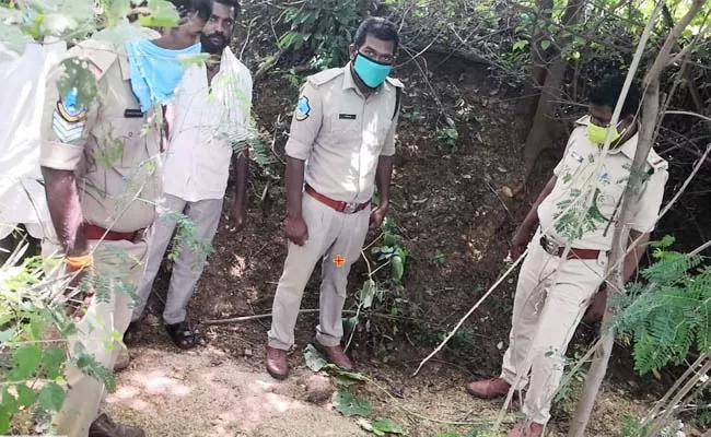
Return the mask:
<path id="1" fill-rule="evenodd" d="M 285 381 L 277 381 L 263 370 L 260 354 L 234 358 L 210 346 L 179 353 L 155 344 L 132 349 L 131 356 L 130 367 L 117 376 L 118 389 L 108 397 L 107 410 L 121 422 L 144 427 L 149 436 L 371 435 L 359 427 L 356 417 L 343 417 L 333 410 L 330 379 L 302 365 L 296 365 Z M 371 418 L 393 418 L 408 436 L 433 437 L 445 432 L 465 435 L 473 428 L 432 422 L 417 414 L 443 422 L 490 423 L 501 406 L 500 402 L 464 394 L 463 381 L 452 378 L 446 366 L 434 364 L 423 378 L 407 381 L 388 370 L 369 368 L 364 373 L 385 387 L 399 387 L 396 391 L 403 393 L 401 399 L 389 399 L 366 386 L 359 395 L 373 402 L 375 413 Z M 617 436 L 620 411 L 637 415 L 648 406 L 619 394 L 603 395 L 590 435 Z M 508 422 L 514 420 L 513 415 L 508 417 Z M 548 435 L 563 436 L 564 432 L 551 426 Z"/>

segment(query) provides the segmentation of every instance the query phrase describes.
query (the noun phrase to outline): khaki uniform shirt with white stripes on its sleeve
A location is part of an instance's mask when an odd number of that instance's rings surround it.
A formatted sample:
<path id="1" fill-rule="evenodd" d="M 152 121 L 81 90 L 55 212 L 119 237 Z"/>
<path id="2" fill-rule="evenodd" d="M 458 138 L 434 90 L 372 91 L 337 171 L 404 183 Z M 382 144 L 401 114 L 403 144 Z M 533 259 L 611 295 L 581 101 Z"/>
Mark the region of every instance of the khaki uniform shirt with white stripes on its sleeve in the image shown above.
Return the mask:
<path id="1" fill-rule="evenodd" d="M 145 228 L 162 192 L 160 118 L 141 114 L 123 46 L 88 40 L 68 55 L 89 61 L 97 95 L 88 108 L 72 107 L 56 85 L 62 68 L 50 74 L 40 164 L 75 172 L 85 222 L 117 232 Z"/>

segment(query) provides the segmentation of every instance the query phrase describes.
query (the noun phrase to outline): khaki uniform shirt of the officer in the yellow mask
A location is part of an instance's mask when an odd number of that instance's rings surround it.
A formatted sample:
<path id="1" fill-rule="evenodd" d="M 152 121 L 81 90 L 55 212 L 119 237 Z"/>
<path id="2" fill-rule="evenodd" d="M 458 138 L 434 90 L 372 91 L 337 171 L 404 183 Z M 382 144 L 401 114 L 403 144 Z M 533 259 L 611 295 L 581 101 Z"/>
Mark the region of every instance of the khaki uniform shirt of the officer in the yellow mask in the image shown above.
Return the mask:
<path id="1" fill-rule="evenodd" d="M 603 156 L 602 147 L 587 139 L 588 122 L 590 117 L 578 120 L 579 126 L 568 140 L 566 154 L 553 169 L 557 181 L 550 194 L 540 203 L 538 218 L 546 234 L 559 244 L 571 240 L 574 248 L 609 250 L 638 134 Z M 599 173 L 594 175 L 598 161 L 603 158 L 605 161 Z M 627 224 L 630 228 L 640 233 L 654 229 L 668 178 L 667 167 L 666 161 L 653 150 L 650 151 L 638 200 L 630 205 L 633 209 L 631 223 Z M 585 191 L 584 187 L 591 180 L 596 182 L 596 191 L 593 204 L 586 211 L 586 193 L 590 191 Z"/>

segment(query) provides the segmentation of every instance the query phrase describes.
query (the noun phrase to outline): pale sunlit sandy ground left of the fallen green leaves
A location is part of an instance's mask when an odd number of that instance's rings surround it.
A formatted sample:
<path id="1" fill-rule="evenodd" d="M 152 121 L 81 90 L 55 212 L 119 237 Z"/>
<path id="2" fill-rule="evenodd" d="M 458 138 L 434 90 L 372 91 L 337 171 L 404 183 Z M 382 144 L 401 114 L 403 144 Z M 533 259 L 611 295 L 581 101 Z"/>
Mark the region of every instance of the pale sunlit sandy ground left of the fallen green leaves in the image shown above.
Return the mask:
<path id="1" fill-rule="evenodd" d="M 283 382 L 203 349 L 177 353 L 132 350 L 130 368 L 117 376 L 107 399 L 119 421 L 149 436 L 364 436 L 329 405 L 306 401 L 308 370 Z"/>

